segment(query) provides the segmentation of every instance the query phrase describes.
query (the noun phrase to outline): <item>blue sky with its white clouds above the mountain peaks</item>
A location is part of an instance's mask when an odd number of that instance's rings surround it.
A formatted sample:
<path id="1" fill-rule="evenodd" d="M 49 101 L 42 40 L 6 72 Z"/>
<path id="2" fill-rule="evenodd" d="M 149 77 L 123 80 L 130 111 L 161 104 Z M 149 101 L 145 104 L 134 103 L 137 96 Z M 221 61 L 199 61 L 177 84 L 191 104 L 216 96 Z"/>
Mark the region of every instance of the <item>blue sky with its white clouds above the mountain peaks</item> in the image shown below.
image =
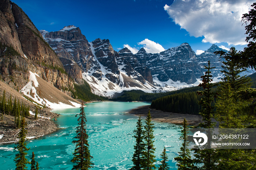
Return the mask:
<path id="1" fill-rule="evenodd" d="M 114 50 L 160 52 L 182 43 L 246 47 L 241 16 L 252 0 L 12 0 L 41 30 L 79 27 L 88 41 L 109 39 Z"/>

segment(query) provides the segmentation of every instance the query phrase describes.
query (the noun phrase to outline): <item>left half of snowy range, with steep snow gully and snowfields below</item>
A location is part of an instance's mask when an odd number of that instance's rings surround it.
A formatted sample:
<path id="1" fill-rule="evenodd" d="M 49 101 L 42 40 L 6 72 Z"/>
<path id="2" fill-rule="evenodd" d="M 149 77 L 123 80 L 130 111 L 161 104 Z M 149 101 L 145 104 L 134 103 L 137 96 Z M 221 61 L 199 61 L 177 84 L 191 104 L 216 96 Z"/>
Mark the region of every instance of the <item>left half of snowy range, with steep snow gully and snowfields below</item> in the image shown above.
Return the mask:
<path id="1" fill-rule="evenodd" d="M 109 96 L 130 88 L 148 91 L 153 88 L 149 85 L 153 83 L 150 70 L 139 64 L 128 49 L 114 51 L 108 39 L 88 42 L 74 25 L 56 32 L 40 32 L 68 74 L 78 83 L 83 82 L 83 77 L 95 94 Z"/>

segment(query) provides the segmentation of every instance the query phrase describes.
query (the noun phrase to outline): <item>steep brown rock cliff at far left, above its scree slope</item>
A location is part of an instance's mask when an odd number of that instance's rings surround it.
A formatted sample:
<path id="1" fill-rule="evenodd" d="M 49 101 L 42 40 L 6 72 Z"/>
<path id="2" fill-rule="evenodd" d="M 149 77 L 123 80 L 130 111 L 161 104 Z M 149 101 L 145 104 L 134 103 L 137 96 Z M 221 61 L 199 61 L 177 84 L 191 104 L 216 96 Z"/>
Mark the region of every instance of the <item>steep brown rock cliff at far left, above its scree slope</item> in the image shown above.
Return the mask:
<path id="1" fill-rule="evenodd" d="M 72 88 L 60 59 L 29 17 L 9 0 L 0 0 L 0 4 L 1 78 L 20 89 L 31 71 L 59 89 Z"/>

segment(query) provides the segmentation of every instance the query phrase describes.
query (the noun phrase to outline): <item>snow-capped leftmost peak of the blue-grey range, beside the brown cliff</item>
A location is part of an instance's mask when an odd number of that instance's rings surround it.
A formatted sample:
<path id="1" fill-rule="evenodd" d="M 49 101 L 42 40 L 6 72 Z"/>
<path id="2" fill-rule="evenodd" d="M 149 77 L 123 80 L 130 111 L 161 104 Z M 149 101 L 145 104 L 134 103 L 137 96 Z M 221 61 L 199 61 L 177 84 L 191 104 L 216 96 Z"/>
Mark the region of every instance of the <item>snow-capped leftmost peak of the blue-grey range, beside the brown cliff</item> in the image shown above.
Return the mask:
<path id="1" fill-rule="evenodd" d="M 91 52 L 90 44 L 82 35 L 81 30 L 74 25 L 69 25 L 55 32 L 45 30 L 40 32 L 61 59 L 68 74 L 77 83 L 83 83 L 82 72 L 90 71 L 91 67 L 97 66 L 97 62 Z"/>

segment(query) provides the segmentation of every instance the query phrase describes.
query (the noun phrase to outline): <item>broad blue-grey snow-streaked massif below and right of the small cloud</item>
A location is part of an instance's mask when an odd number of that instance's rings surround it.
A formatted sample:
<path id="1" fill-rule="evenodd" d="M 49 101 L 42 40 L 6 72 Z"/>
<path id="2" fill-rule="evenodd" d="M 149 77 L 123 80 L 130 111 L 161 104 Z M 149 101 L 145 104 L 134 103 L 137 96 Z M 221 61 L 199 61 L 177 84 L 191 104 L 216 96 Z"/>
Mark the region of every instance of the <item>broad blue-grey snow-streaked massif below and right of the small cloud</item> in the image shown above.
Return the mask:
<path id="1" fill-rule="evenodd" d="M 149 54 L 141 49 L 135 56 L 143 66 L 150 68 L 151 74 L 161 82 L 171 79 L 192 84 L 202 75 L 196 54 L 188 43 L 158 54 Z"/>

